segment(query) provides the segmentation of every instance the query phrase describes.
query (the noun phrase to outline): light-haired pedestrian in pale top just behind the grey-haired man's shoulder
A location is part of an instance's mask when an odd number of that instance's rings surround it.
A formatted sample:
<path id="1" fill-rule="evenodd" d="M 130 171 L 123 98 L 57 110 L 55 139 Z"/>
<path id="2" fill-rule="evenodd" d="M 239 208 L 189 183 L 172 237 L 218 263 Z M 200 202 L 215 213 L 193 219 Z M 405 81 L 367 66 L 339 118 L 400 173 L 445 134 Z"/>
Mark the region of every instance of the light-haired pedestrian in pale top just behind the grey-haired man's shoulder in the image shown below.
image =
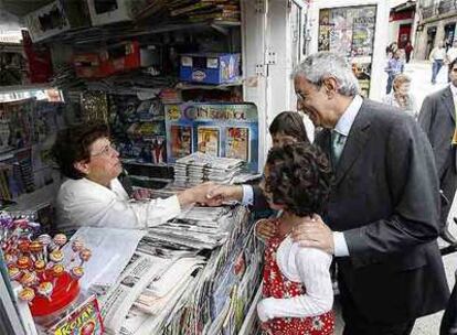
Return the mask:
<path id="1" fill-rule="evenodd" d="M 416 99 L 410 91 L 411 77 L 405 74 L 397 75 L 393 80 L 392 87 L 393 90 L 383 98 L 383 102 L 397 107 L 416 119 L 418 108 Z"/>

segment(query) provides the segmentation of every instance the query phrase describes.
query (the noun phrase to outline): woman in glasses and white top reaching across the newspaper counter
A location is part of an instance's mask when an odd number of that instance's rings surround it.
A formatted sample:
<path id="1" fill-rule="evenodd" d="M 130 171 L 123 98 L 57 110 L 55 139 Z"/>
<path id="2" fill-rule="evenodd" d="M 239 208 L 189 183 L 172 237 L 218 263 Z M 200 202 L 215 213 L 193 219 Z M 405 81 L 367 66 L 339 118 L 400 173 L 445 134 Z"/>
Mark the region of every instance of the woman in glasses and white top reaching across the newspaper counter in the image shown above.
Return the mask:
<path id="1" fill-rule="evenodd" d="M 204 203 L 211 183 L 166 199 L 130 202 L 118 176 L 119 153 L 106 125 L 77 125 L 57 134 L 52 153 L 67 180 L 56 198 L 57 228 L 74 233 L 83 226 L 144 229 L 160 225 L 192 203 Z"/>

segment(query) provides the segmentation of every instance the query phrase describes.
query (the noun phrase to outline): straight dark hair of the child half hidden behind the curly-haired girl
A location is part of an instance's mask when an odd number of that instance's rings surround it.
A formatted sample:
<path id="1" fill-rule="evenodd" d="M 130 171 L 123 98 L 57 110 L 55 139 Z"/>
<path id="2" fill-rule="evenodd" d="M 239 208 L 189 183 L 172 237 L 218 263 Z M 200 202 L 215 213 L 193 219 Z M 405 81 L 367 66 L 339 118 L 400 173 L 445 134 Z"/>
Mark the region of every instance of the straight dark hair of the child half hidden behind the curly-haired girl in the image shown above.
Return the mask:
<path id="1" fill-rule="evenodd" d="M 304 119 L 297 111 L 283 111 L 269 125 L 272 136 L 284 133 L 297 139 L 298 142 L 309 142 Z"/>

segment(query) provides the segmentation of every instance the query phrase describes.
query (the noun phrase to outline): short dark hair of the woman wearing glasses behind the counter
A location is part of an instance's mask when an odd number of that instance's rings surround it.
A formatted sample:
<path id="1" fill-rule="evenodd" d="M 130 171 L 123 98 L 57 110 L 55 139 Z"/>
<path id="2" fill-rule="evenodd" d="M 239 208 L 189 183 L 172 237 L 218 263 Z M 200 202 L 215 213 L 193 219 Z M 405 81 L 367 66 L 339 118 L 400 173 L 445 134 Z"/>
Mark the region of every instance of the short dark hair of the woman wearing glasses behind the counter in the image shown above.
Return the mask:
<path id="1" fill-rule="evenodd" d="M 102 122 L 79 123 L 61 130 L 51 152 L 62 174 L 74 180 L 84 177 L 74 164 L 89 161 L 91 145 L 96 140 L 108 137 L 108 127 Z"/>

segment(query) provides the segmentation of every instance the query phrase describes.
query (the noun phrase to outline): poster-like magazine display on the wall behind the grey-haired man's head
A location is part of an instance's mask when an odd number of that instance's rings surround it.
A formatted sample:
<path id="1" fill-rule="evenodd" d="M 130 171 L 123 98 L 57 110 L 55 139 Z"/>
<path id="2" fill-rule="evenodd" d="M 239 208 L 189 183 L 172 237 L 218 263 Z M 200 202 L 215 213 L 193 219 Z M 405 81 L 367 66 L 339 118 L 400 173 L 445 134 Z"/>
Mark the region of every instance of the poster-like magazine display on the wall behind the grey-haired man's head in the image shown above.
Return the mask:
<path id="1" fill-rule="evenodd" d="M 346 55 L 365 97 L 370 94 L 375 21 L 375 6 L 322 9 L 319 12 L 318 50 Z"/>

